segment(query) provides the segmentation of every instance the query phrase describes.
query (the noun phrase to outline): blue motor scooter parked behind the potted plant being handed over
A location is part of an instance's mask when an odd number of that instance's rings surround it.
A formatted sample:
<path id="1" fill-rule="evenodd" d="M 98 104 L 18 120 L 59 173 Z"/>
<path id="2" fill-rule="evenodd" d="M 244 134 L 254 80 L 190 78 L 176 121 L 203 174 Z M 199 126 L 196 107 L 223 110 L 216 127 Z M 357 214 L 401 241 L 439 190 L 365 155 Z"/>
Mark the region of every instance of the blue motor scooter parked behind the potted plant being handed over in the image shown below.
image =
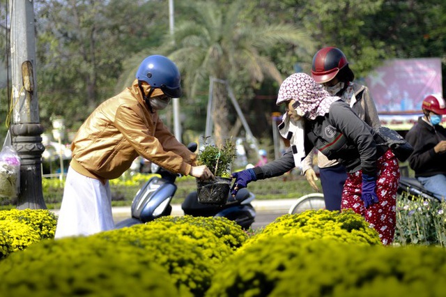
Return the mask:
<path id="1" fill-rule="evenodd" d="M 191 143 L 187 148 L 192 152 L 196 151 L 197 144 Z M 141 187 L 132 201 L 132 218 L 116 223 L 116 229 L 171 215 L 171 200 L 177 189 L 175 181 L 180 174 L 174 174 L 155 164 L 151 165 L 151 171 L 160 176 L 153 176 Z M 237 222 L 243 229 L 249 229 L 256 217 L 256 211 L 251 204 L 254 198 L 254 194 L 244 188 L 238 191 L 236 197 L 229 193 L 224 205 L 200 204 L 197 192 L 191 192 L 186 196 L 181 208 L 185 215 L 225 217 Z"/>

